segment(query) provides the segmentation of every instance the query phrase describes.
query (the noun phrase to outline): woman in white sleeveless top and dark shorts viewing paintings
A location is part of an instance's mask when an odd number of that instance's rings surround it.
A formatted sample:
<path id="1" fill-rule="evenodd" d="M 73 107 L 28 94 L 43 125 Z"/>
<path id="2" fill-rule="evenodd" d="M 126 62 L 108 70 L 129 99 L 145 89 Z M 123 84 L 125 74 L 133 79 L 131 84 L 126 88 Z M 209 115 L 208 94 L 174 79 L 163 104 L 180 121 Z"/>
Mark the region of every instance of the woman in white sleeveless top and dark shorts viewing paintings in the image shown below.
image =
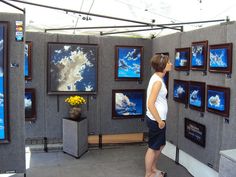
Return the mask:
<path id="1" fill-rule="evenodd" d="M 151 66 L 155 73 L 149 80 L 147 88 L 147 125 L 148 149 L 145 156 L 145 177 L 164 177 L 165 172 L 157 169 L 156 163 L 161 150 L 166 144 L 166 115 L 167 115 L 167 89 L 163 81 L 166 72 L 170 71 L 172 64 L 168 56 L 155 55 L 151 58 Z"/>

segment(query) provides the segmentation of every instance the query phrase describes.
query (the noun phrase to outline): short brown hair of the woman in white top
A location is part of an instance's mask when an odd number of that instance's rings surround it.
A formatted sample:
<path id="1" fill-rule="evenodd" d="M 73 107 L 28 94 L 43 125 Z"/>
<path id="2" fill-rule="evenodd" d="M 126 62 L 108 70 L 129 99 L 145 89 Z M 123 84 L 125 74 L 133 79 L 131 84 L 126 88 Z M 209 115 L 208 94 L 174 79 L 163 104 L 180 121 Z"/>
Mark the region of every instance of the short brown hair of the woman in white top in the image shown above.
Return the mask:
<path id="1" fill-rule="evenodd" d="M 163 54 L 154 55 L 151 58 L 151 66 L 155 72 L 163 72 L 169 61 L 169 57 Z"/>

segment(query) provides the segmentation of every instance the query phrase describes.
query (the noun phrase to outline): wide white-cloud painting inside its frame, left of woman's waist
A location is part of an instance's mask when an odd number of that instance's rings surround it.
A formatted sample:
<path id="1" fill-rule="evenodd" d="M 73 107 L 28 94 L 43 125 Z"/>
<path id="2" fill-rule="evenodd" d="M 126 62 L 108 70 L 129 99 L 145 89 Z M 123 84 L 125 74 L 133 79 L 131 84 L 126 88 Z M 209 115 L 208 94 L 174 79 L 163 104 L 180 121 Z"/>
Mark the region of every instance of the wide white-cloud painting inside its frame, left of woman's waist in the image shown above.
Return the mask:
<path id="1" fill-rule="evenodd" d="M 115 116 L 141 116 L 144 113 L 143 92 L 115 93 Z"/>

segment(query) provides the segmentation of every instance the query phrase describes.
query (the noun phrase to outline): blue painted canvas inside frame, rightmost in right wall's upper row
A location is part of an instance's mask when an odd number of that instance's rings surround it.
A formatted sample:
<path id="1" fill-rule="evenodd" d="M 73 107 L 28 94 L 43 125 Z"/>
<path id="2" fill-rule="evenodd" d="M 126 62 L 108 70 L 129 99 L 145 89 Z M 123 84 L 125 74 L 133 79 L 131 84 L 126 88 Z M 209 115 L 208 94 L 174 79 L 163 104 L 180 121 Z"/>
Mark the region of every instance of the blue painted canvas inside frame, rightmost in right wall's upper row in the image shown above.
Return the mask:
<path id="1" fill-rule="evenodd" d="M 211 68 L 228 67 L 227 48 L 210 49 L 210 67 Z"/>

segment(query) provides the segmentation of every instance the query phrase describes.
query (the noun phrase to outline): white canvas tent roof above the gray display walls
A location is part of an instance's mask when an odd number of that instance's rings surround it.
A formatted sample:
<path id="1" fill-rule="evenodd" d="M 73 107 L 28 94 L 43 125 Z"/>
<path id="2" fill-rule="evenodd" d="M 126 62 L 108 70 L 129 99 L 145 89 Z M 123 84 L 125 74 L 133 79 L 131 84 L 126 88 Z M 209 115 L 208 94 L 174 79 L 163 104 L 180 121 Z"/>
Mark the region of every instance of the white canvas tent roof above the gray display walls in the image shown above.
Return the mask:
<path id="1" fill-rule="evenodd" d="M 234 0 L 0 0 L 0 12 L 21 12 L 6 3 L 25 9 L 26 31 L 80 28 L 50 32 L 81 35 L 119 32 L 113 35 L 158 37 L 175 33 L 181 26 L 188 31 L 218 24 L 217 20 L 227 17 L 236 19 Z M 199 21 L 217 22 L 185 24 Z"/>

